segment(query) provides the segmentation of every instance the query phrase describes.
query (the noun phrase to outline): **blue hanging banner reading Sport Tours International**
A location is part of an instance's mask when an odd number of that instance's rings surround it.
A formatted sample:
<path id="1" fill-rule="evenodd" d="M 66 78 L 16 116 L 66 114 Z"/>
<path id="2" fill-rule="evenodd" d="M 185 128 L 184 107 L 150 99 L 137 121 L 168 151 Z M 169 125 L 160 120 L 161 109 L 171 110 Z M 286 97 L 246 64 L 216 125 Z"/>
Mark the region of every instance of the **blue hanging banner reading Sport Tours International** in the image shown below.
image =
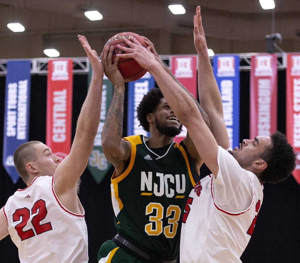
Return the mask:
<path id="1" fill-rule="evenodd" d="M 2 164 L 16 184 L 19 174 L 13 164 L 13 153 L 28 142 L 30 61 L 7 61 L 6 69 Z"/>

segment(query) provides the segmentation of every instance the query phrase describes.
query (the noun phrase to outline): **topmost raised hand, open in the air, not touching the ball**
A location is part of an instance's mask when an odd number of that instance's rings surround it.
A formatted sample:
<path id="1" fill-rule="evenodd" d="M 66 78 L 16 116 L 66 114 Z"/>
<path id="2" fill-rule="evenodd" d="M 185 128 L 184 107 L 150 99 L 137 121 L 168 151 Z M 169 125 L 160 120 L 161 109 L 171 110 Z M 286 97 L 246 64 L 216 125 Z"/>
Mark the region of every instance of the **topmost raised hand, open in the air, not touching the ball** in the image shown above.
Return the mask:
<path id="1" fill-rule="evenodd" d="M 196 15 L 194 16 L 194 45 L 198 53 L 203 51 L 207 52 L 207 44 L 202 27 L 202 19 L 199 6 L 197 6 L 196 8 Z"/>

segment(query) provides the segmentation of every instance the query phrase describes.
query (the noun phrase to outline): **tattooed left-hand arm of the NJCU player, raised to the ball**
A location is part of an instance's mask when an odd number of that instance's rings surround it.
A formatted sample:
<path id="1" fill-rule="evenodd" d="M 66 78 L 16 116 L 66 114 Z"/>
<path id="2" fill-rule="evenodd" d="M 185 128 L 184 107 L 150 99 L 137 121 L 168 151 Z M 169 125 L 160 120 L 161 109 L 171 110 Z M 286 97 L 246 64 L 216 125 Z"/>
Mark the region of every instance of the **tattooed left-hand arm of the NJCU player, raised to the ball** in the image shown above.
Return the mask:
<path id="1" fill-rule="evenodd" d="M 119 176 L 127 163 L 131 153 L 131 144 L 122 139 L 123 115 L 124 115 L 124 79 L 118 70 L 120 58 L 112 63 L 113 46 L 108 47 L 101 53 L 101 61 L 104 66 L 105 75 L 113 84 L 113 98 L 105 119 L 102 131 L 102 150 L 107 161 L 116 169 Z"/>

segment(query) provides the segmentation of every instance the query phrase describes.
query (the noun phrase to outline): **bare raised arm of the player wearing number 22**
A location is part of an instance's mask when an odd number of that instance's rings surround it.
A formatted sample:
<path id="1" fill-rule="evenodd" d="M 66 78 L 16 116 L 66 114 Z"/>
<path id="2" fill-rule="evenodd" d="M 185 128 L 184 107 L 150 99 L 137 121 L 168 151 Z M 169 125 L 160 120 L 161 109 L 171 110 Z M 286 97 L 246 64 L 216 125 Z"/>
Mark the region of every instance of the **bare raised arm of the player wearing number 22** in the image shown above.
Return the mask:
<path id="1" fill-rule="evenodd" d="M 63 205 L 76 207 L 76 182 L 85 170 L 94 145 L 100 123 L 102 84 L 104 68 L 97 52 L 92 50 L 84 36 L 78 35 L 86 55 L 91 63 L 93 75 L 87 96 L 82 105 L 76 126 L 76 133 L 70 154 L 64 158 L 55 170 L 54 189 Z"/>

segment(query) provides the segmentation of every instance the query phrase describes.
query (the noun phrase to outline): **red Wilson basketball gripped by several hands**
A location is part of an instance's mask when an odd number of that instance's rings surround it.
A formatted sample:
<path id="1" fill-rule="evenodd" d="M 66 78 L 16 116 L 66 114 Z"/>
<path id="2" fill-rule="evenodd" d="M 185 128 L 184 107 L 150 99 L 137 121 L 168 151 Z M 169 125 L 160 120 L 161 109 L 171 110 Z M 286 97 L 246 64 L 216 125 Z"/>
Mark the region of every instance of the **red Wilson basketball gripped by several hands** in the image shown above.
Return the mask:
<path id="1" fill-rule="evenodd" d="M 134 37 L 143 46 L 147 47 L 143 38 L 140 35 L 131 33 L 131 32 L 123 32 L 123 33 L 119 33 L 119 34 L 116 34 L 113 37 L 111 37 L 106 42 L 106 44 L 103 48 L 103 51 L 107 46 L 113 46 L 114 50 L 113 50 L 112 60 L 114 62 L 115 58 L 116 58 L 116 54 L 118 54 L 120 51 L 120 49 L 117 47 L 117 45 L 119 44 L 121 46 L 128 47 L 128 45 L 124 42 L 124 38 L 130 39 L 131 37 Z M 126 53 L 125 51 L 122 51 L 122 50 L 121 50 L 121 52 L 123 54 Z M 147 72 L 147 70 L 144 69 L 143 67 L 141 67 L 140 64 L 137 63 L 137 61 L 135 61 L 133 58 L 120 58 L 119 63 L 118 63 L 118 69 L 120 70 L 125 82 L 130 82 L 130 81 L 135 81 L 137 79 L 140 79 Z"/>

